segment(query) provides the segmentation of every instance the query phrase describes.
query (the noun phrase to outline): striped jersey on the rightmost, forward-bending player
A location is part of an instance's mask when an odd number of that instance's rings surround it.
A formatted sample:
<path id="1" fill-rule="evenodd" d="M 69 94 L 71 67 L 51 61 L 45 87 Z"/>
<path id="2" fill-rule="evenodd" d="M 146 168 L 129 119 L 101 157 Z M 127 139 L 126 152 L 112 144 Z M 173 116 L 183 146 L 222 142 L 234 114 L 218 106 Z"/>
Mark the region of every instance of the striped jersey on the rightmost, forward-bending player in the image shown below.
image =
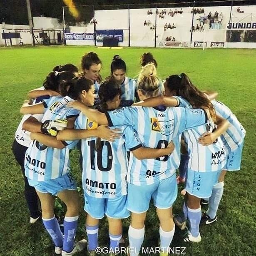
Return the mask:
<path id="1" fill-rule="evenodd" d="M 225 104 L 218 100 L 213 100 L 211 103 L 214 105 L 216 114 L 227 119 L 230 123 L 229 128 L 221 135 L 221 140 L 223 141 L 226 152 L 231 154 L 231 152 L 237 149 L 244 141 L 246 131 L 236 116 Z"/>

